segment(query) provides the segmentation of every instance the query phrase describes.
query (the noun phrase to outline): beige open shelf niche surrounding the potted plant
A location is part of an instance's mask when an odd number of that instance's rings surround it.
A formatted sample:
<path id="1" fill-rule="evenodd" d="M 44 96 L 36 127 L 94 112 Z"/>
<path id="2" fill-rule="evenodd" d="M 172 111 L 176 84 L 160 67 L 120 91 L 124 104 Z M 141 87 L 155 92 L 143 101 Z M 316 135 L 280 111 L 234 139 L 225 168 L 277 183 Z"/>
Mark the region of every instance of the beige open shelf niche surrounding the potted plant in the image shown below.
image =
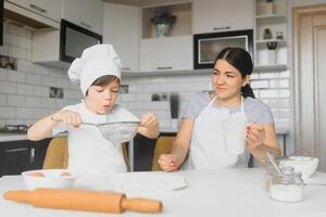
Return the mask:
<path id="1" fill-rule="evenodd" d="M 155 26 L 151 17 L 156 10 L 168 10 L 176 15 L 176 21 L 170 30 L 170 36 L 191 35 L 191 2 L 163 4 L 141 9 L 141 38 L 156 38 Z"/>

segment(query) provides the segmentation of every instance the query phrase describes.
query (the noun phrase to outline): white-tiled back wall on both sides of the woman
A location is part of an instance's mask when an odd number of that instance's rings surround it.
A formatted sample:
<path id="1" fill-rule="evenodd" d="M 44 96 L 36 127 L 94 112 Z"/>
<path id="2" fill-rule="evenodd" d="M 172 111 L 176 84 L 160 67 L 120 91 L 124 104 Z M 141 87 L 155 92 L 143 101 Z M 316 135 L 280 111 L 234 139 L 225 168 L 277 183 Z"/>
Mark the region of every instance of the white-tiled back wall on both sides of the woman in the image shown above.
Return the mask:
<path id="1" fill-rule="evenodd" d="M 154 73 L 153 73 L 154 74 Z M 264 101 L 272 110 L 276 126 L 289 129 L 290 123 L 290 73 L 262 72 L 252 74 L 251 86 L 255 97 Z M 211 75 L 166 75 L 147 78 L 124 78 L 129 85 L 129 93 L 121 97 L 121 103 L 137 115 L 155 112 L 162 128 L 177 127 L 177 120 L 171 119 L 168 101 L 151 101 L 152 93 L 178 93 L 180 99 L 179 116 L 191 94 L 196 91 L 210 90 Z"/>

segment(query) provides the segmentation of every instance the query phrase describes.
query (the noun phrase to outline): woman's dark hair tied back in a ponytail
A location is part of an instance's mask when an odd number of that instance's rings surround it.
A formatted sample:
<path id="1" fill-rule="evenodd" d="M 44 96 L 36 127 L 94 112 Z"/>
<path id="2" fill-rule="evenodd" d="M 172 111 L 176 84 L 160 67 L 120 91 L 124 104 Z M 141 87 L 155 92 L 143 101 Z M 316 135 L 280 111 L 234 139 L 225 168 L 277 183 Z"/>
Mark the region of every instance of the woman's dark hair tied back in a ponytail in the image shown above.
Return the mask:
<path id="1" fill-rule="evenodd" d="M 253 64 L 250 54 L 242 48 L 225 48 L 216 56 L 214 65 L 218 60 L 225 60 L 237 68 L 241 73 L 241 77 L 244 78 L 247 75 L 251 75 Z M 254 93 L 250 85 L 246 85 L 241 88 L 242 97 L 254 98 Z"/>

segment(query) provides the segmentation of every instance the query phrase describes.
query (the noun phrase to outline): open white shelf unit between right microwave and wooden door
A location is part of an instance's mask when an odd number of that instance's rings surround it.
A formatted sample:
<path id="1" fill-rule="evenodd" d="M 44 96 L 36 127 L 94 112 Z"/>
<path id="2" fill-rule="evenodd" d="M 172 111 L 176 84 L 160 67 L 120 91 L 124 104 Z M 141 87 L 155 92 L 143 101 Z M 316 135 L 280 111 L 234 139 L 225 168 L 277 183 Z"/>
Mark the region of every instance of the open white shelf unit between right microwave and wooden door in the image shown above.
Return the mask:
<path id="1" fill-rule="evenodd" d="M 255 2 L 255 66 L 287 68 L 287 0 Z"/>

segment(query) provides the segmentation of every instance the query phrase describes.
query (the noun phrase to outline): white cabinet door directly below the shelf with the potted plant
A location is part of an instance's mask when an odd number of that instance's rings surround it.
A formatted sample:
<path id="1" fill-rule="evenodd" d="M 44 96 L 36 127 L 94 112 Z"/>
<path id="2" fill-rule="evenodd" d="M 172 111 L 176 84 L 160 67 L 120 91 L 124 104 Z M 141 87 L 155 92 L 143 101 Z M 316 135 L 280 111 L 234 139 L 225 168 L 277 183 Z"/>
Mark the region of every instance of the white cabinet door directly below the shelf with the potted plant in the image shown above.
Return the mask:
<path id="1" fill-rule="evenodd" d="M 142 72 L 192 69 L 192 36 L 142 39 L 140 69 Z"/>

